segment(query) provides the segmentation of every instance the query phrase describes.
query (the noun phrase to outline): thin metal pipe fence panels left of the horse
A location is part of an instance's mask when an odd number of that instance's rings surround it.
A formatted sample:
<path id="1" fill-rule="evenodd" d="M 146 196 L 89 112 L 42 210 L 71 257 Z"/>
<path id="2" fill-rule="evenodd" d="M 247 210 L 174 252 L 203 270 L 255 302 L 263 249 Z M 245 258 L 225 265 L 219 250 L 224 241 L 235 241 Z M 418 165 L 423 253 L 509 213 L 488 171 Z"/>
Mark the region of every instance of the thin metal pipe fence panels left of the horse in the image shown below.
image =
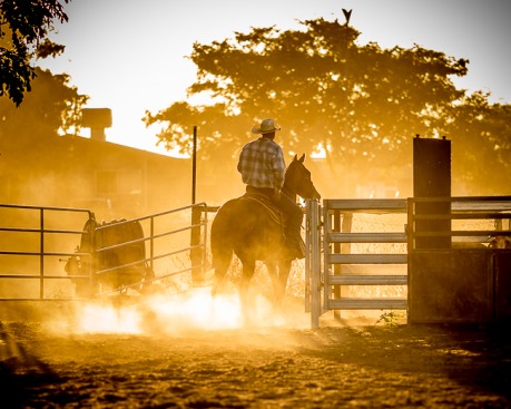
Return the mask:
<path id="1" fill-rule="evenodd" d="M 171 256 L 190 254 L 190 265 L 178 267 L 157 274 L 153 281 L 191 272 L 194 284 L 205 272 L 207 263 L 207 206 L 205 203 L 193 204 L 148 216 L 118 221 L 122 225 L 132 222 L 144 223 L 145 234 L 135 241 L 115 245 L 94 247 L 88 252 L 73 251 L 80 243 L 80 237 L 86 232 L 81 226 L 87 221 L 94 220 L 94 213 L 85 208 L 46 207 L 28 205 L 0 204 L 0 301 L 72 301 L 80 296 L 72 294 L 68 289 L 72 280 L 90 282 L 97 280 L 99 274 L 110 270 L 122 269 L 130 264 L 116 265 L 115 269 L 95 271 L 95 263 L 88 262 L 89 269 L 82 274 L 66 274 L 62 262 L 72 256 L 83 260 L 94 260 L 98 254 L 112 251 L 121 246 L 141 243 L 147 245 L 148 255 L 138 263 L 147 263 L 151 270 L 158 269 L 155 263 L 166 263 Z M 191 223 L 188 213 L 191 212 Z M 166 217 L 174 217 L 177 222 Z M 77 227 L 80 226 L 80 227 Z M 111 224 L 110 224 L 111 226 Z M 98 225 L 98 230 L 105 228 Z M 190 234 L 188 243 L 175 243 L 179 233 Z M 183 238 L 181 241 L 184 241 Z M 180 243 L 180 242 L 179 242 Z M 65 290 L 55 291 L 53 288 Z M 129 286 L 129 285 L 128 285 Z M 128 288 L 126 286 L 126 288 Z M 125 288 L 116 289 L 121 291 Z M 99 295 L 99 293 L 90 292 Z M 101 294 L 108 294 L 101 293 Z"/>

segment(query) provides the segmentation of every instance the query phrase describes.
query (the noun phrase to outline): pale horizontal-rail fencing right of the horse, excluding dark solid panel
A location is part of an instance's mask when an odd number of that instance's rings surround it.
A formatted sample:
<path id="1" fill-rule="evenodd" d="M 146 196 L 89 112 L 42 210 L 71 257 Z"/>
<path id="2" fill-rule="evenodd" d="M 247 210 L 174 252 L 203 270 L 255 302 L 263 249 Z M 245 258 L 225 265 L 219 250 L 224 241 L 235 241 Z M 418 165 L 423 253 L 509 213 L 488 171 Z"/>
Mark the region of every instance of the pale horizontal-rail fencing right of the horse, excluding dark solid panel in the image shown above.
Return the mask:
<path id="1" fill-rule="evenodd" d="M 448 251 L 454 259 L 459 257 L 456 249 L 494 251 L 491 249 L 498 237 L 511 235 L 510 218 L 511 196 L 324 199 L 323 205 L 307 201 L 305 302 L 312 328 L 317 328 L 320 317 L 331 310 L 337 317 L 341 310 L 409 313 L 410 300 L 421 300 L 422 291 L 415 288 L 415 294 L 411 294 L 409 284 L 414 274 L 409 263 L 411 254 L 425 252 L 424 256 L 435 260 L 439 251 Z M 454 267 L 443 267 L 444 275 L 449 275 L 449 269 Z M 490 276 L 488 281 L 495 279 Z M 360 296 L 363 292 L 351 291 L 367 286 L 397 291 L 383 298 Z M 491 289 L 487 290 L 491 293 Z M 393 296 L 395 293 L 400 296 Z"/>

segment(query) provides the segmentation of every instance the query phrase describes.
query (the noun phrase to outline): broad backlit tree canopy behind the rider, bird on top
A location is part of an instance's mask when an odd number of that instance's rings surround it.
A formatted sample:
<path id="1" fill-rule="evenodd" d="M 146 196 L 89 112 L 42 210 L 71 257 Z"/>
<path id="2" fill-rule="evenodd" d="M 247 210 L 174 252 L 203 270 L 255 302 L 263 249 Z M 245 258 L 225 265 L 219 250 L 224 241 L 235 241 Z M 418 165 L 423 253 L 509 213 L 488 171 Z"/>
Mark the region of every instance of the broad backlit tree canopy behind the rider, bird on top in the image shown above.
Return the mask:
<path id="1" fill-rule="evenodd" d="M 455 135 L 463 143 L 500 147 L 495 138 L 507 127 L 509 107 L 490 106 L 484 95 L 470 98 L 456 89 L 452 79 L 466 75 L 468 60 L 420 46 L 360 46 L 360 32 L 338 21 L 320 18 L 302 26 L 282 32 L 253 28 L 234 39 L 195 43 L 190 59 L 197 81 L 188 92 L 214 103 L 175 103 L 146 113 L 146 125 L 164 125 L 161 143 L 187 153 L 196 125 L 200 156 L 232 165 L 252 125 L 273 117 L 283 127 L 278 139 L 285 152 L 311 154 L 323 147 L 326 162 L 366 177 L 375 167 L 410 163 L 416 134 Z M 484 120 L 478 119 L 481 115 Z"/>

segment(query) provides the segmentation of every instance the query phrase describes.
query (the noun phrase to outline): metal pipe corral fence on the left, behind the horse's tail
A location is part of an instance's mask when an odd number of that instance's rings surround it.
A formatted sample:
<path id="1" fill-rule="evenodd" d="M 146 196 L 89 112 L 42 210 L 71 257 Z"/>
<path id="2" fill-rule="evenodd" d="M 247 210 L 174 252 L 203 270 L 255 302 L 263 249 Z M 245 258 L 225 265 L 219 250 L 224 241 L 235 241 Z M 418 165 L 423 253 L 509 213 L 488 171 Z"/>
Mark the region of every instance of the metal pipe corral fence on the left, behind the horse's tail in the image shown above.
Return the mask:
<path id="1" fill-rule="evenodd" d="M 185 273 L 189 276 L 181 282 L 191 284 L 206 269 L 206 208 L 199 203 L 129 221 L 99 223 L 86 208 L 0 204 L 0 301 L 63 301 L 126 293 L 140 283 L 119 288 L 98 283 L 105 274 L 134 266 L 151 273 L 145 276 L 145 284 L 177 288 L 180 284 L 171 279 Z M 139 226 L 141 234 L 114 243 L 95 240 L 101 231 L 128 225 Z M 116 264 L 119 251 L 132 253 L 134 249 L 136 260 Z M 101 259 L 110 262 L 100 263 Z M 71 261 L 81 269 L 69 269 Z M 78 283 L 85 283 L 89 291 L 77 294 Z"/>

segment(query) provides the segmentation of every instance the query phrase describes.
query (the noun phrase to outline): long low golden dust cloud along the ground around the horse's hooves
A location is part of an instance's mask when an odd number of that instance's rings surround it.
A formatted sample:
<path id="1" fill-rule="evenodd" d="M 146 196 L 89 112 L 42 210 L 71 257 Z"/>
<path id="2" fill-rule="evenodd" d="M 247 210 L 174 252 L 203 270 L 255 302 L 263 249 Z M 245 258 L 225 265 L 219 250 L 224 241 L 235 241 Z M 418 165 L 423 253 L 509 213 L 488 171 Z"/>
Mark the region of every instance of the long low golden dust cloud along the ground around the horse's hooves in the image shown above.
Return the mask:
<path id="1" fill-rule="evenodd" d="M 180 294 L 116 295 L 98 300 L 32 303 L 0 310 L 2 319 L 38 321 L 56 335 L 126 334 L 189 337 L 229 330 L 309 327 L 303 299 L 289 298 L 276 310 L 271 300 L 253 294 L 242 306 L 236 292 L 210 294 L 199 288 Z"/>

